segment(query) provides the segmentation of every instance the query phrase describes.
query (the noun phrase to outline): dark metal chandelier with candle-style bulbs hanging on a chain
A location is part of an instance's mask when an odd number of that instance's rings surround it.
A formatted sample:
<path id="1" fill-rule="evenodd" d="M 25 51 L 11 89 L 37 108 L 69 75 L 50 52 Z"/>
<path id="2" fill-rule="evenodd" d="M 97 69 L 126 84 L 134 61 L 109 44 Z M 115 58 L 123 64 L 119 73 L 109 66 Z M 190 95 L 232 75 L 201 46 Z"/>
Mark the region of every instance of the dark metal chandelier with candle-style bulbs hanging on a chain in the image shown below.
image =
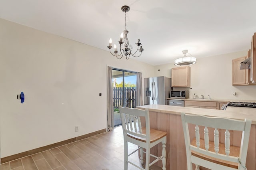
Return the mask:
<path id="1" fill-rule="evenodd" d="M 132 55 L 133 57 L 140 57 L 142 51 L 144 50 L 142 48 L 141 43 L 140 43 L 140 39 L 138 39 L 138 42 L 135 43 L 137 46 L 137 49 L 134 53 L 132 53 L 132 45 L 129 45 L 129 40 L 127 38 L 127 34 L 128 31 L 126 30 L 126 12 L 128 12 L 130 10 L 129 6 L 122 6 L 122 12 L 125 12 L 125 30 L 121 33 L 120 36 L 120 54 L 117 54 L 118 51 L 116 50 L 116 44 L 114 44 L 114 53 L 111 52 L 111 48 L 112 48 L 112 39 L 110 38 L 109 40 L 109 46 L 107 46 L 109 48 L 109 51 L 112 55 L 116 56 L 116 58 L 121 59 L 123 57 L 123 55 L 125 55 L 126 59 L 130 58 L 130 55 Z M 140 46 L 140 48 L 139 48 Z M 140 54 L 138 55 L 138 51 L 140 51 Z M 136 54 L 137 53 L 137 54 Z M 135 55 L 136 54 L 136 55 Z M 120 57 L 119 57 L 120 56 Z"/>

